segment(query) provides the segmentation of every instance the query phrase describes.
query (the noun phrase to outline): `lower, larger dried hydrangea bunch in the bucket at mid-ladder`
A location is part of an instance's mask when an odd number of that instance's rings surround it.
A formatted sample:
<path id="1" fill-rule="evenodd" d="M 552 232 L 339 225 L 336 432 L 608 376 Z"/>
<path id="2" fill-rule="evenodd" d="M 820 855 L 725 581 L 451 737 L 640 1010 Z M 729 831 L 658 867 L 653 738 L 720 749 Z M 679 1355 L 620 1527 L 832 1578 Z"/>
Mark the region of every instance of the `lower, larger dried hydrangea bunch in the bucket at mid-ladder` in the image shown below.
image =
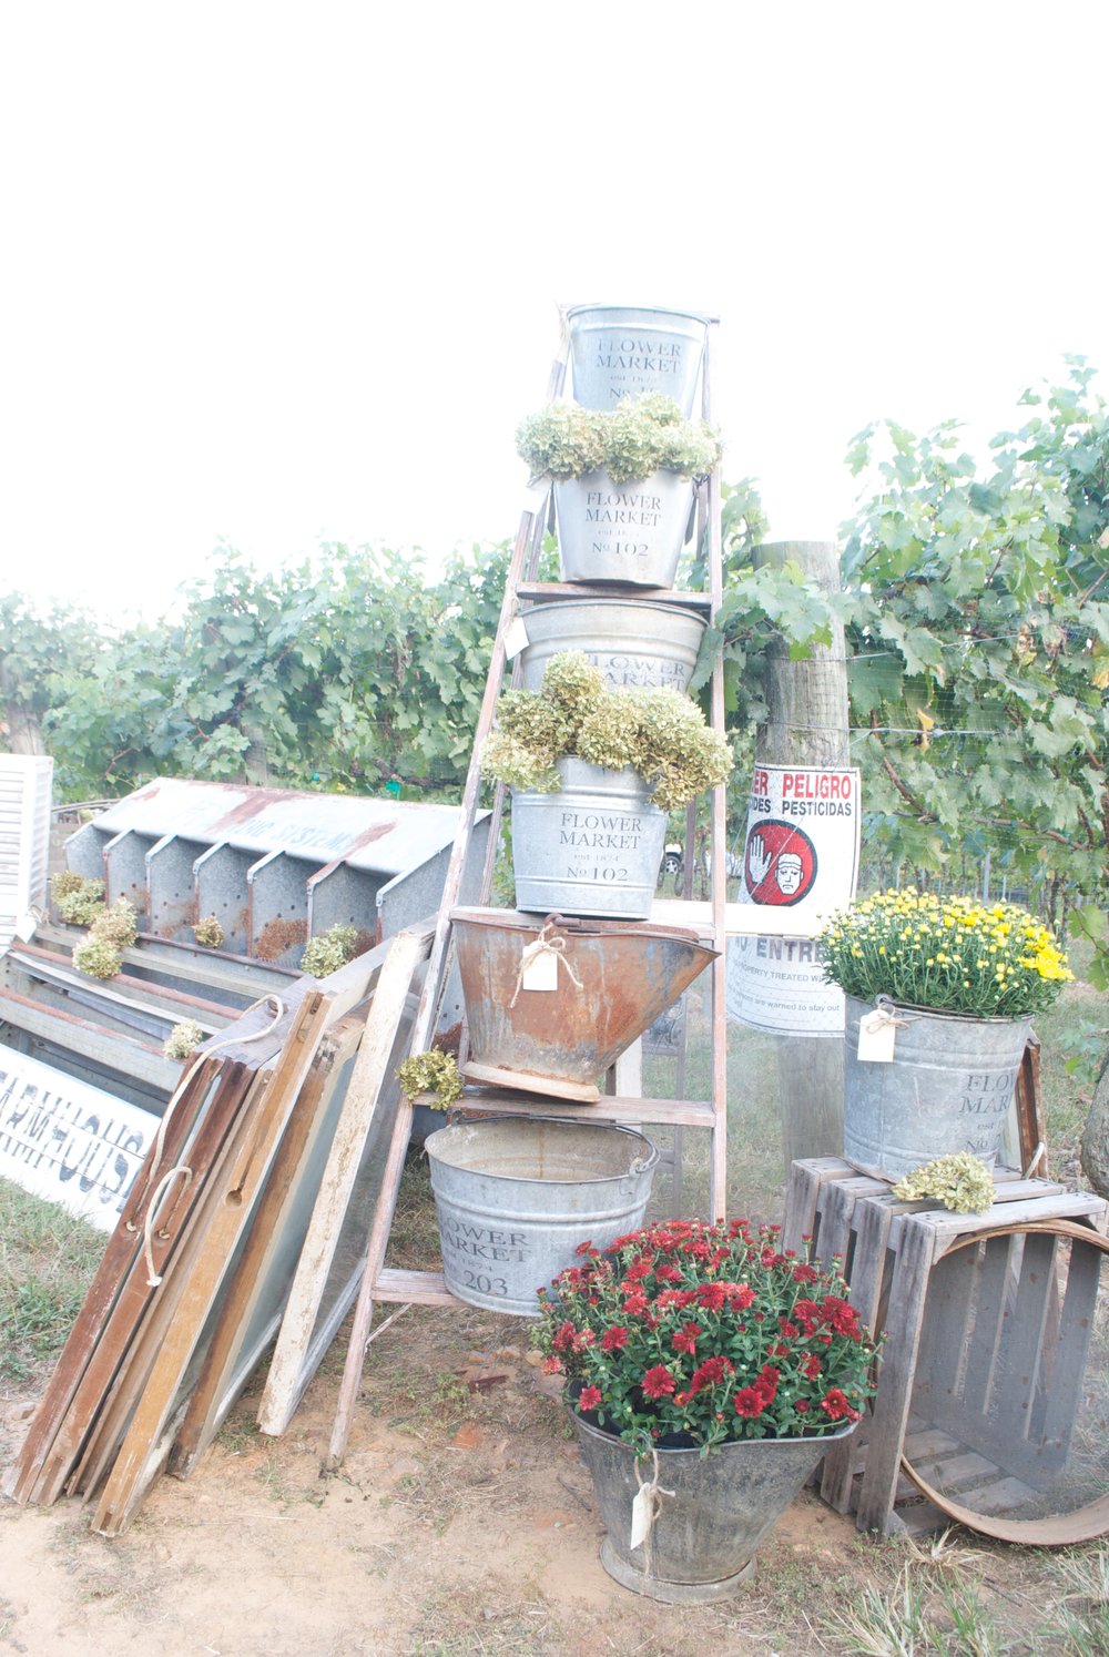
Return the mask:
<path id="1" fill-rule="evenodd" d="M 733 756 L 696 703 L 670 688 L 610 691 L 580 651 L 552 656 L 539 691 L 506 691 L 481 769 L 511 789 L 554 794 L 555 761 L 577 756 L 607 771 L 632 767 L 665 810 L 724 782 Z"/>

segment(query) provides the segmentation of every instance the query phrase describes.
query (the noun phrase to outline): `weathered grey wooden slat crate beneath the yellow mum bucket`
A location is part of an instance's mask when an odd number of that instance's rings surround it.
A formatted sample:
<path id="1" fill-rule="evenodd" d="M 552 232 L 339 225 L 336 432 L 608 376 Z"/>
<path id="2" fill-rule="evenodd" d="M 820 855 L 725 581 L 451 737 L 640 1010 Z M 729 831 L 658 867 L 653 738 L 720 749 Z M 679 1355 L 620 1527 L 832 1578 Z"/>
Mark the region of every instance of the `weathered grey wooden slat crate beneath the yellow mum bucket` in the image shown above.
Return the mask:
<path id="1" fill-rule="evenodd" d="M 902 1455 L 980 1513 L 1023 1506 L 1066 1465 L 1101 1254 L 1076 1243 L 1066 1269 L 1058 1238 L 993 1234 L 1063 1218 L 1104 1229 L 1106 1203 L 998 1170 L 993 1208 L 953 1215 L 897 1203 L 839 1158 L 794 1162 L 782 1246 L 839 1256 L 852 1304 L 885 1331 L 872 1413 L 821 1473 L 860 1529 L 947 1523 Z"/>

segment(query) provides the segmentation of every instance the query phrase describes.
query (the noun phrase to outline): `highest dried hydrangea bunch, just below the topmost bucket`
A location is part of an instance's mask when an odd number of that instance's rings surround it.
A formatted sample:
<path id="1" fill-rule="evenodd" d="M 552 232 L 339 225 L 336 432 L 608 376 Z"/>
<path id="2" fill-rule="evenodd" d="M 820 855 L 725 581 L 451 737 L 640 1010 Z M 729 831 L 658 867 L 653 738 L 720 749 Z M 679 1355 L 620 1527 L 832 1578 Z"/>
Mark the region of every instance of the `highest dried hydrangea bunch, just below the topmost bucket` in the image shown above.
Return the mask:
<path id="1" fill-rule="evenodd" d="M 534 477 L 564 482 L 605 471 L 613 484 L 632 484 L 660 471 L 708 477 L 721 442 L 705 421 L 685 419 L 673 398 L 648 391 L 615 409 L 549 403 L 519 424 L 516 452 Z"/>

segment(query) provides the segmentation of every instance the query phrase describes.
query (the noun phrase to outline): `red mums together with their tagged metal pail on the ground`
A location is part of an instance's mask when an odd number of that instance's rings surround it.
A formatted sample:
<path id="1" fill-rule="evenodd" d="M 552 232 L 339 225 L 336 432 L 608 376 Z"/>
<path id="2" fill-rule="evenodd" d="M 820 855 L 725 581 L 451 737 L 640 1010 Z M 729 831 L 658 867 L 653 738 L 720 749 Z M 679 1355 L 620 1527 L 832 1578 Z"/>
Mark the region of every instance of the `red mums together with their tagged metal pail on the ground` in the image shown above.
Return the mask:
<path id="1" fill-rule="evenodd" d="M 668 1220 L 618 1238 L 540 1291 L 534 1344 L 565 1377 L 627 1587 L 723 1599 L 872 1395 L 877 1345 L 837 1269 L 777 1226 Z"/>

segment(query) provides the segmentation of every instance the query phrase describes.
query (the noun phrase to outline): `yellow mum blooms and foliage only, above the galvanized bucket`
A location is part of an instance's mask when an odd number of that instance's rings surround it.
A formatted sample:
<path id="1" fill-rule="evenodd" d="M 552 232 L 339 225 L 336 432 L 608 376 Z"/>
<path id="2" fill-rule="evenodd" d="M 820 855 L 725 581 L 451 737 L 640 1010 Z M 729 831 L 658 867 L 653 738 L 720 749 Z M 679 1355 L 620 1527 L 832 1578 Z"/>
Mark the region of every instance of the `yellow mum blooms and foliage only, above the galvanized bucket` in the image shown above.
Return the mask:
<path id="1" fill-rule="evenodd" d="M 879 891 L 831 915 L 819 933 L 824 976 L 859 1001 L 971 1017 L 1043 1012 L 1074 974 L 1051 931 L 1015 903 Z"/>

